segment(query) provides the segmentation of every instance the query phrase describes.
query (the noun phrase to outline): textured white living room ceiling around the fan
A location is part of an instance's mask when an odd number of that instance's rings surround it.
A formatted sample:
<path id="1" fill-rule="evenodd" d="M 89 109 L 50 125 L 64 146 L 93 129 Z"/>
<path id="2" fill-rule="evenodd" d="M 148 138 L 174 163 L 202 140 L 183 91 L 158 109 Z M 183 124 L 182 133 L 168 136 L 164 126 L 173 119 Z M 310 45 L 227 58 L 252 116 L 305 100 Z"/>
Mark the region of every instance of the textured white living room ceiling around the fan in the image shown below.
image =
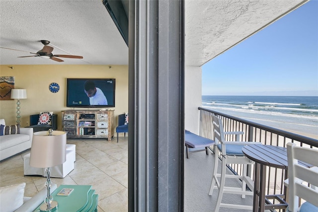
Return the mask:
<path id="1" fill-rule="evenodd" d="M 101 0 L 0 0 L 0 47 L 36 53 L 48 40 L 83 59 L 58 63 L 0 49 L 0 64 L 127 65 L 128 47 Z M 67 54 L 54 47 L 53 54 Z"/>

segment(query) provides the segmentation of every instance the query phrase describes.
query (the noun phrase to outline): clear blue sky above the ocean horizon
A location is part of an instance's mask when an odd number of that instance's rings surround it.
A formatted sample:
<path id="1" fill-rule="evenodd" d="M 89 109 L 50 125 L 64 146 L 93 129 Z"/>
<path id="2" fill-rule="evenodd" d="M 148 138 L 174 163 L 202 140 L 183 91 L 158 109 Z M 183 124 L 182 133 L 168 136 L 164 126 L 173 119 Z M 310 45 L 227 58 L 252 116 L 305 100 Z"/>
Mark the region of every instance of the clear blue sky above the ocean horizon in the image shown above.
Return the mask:
<path id="1" fill-rule="evenodd" d="M 203 65 L 202 95 L 318 95 L 318 0 Z"/>

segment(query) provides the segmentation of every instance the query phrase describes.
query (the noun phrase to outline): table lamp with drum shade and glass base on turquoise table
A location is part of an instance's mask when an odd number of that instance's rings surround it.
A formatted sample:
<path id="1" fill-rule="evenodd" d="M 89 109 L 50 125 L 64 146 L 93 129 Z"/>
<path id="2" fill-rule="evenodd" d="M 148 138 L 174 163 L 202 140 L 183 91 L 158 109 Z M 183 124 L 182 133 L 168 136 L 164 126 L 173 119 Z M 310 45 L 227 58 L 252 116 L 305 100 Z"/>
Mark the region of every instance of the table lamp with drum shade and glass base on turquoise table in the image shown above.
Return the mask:
<path id="1" fill-rule="evenodd" d="M 66 161 L 66 133 L 64 131 L 40 131 L 33 134 L 30 166 L 45 168 L 47 180 L 47 197 L 40 207 L 41 212 L 53 212 L 57 209 L 58 203 L 53 201 L 51 196 L 51 167 L 62 164 Z"/>

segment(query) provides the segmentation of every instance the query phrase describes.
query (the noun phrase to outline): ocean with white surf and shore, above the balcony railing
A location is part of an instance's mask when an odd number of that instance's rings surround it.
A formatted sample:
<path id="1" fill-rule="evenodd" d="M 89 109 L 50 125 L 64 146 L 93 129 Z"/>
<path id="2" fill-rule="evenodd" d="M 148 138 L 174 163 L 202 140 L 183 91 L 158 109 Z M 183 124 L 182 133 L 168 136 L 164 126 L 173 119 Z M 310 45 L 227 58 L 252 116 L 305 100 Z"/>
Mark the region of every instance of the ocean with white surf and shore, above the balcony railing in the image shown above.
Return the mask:
<path id="1" fill-rule="evenodd" d="M 318 138 L 318 96 L 202 96 L 202 107 Z"/>

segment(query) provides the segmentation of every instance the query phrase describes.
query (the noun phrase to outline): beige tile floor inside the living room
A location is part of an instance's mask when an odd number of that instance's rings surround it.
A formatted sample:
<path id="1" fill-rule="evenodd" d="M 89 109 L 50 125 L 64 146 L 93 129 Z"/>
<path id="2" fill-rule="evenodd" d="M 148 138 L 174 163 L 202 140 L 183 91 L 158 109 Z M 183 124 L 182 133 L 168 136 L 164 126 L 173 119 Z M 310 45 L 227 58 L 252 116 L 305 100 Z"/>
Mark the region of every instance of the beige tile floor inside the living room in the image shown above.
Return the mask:
<path id="1" fill-rule="evenodd" d="M 128 137 L 104 139 L 68 139 L 76 144 L 75 168 L 65 178 L 52 178 L 60 185 L 92 185 L 98 194 L 98 212 L 128 211 Z M 32 197 L 44 188 L 45 177 L 23 176 L 23 155 L 0 162 L 0 186 L 26 183 L 25 196 Z"/>

